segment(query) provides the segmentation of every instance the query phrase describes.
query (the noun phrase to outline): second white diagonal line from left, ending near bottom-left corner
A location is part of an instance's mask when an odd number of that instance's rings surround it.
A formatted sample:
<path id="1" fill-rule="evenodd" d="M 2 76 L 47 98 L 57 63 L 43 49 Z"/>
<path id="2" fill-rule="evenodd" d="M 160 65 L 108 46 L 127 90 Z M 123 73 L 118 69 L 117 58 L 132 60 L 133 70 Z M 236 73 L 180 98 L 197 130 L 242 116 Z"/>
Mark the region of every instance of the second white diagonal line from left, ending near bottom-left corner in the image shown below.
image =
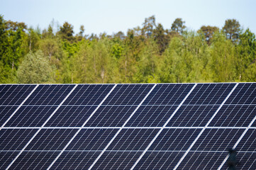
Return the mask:
<path id="1" fill-rule="evenodd" d="M 74 89 L 77 88 L 77 84 L 74 86 L 74 88 L 69 92 L 69 94 L 67 94 L 67 96 L 63 99 L 62 103 L 64 103 L 67 98 L 69 97 L 70 94 L 72 94 L 72 92 L 74 91 Z M 18 153 L 18 155 L 13 159 L 13 161 L 11 162 L 11 164 L 9 164 L 9 166 L 7 166 L 6 170 L 9 169 L 11 167 L 11 165 L 16 161 L 16 159 L 18 159 L 18 157 L 22 154 L 22 152 L 26 149 L 26 147 L 28 147 L 28 145 L 30 144 L 30 142 L 32 142 L 32 140 L 35 138 L 36 135 L 38 135 L 38 133 L 40 132 L 40 130 L 45 126 L 46 123 L 48 123 L 48 121 L 50 120 L 50 118 L 52 118 L 52 115 L 54 115 L 56 113 L 56 111 L 60 108 L 60 106 L 62 105 L 62 103 L 60 103 L 60 105 L 55 109 L 55 111 L 53 111 L 53 113 L 50 115 L 50 117 L 45 121 L 45 123 L 38 129 L 37 132 L 35 132 L 35 135 L 33 135 L 33 137 L 28 141 L 28 143 L 25 145 L 25 147 L 23 147 L 23 149 L 21 150 L 21 152 Z"/>

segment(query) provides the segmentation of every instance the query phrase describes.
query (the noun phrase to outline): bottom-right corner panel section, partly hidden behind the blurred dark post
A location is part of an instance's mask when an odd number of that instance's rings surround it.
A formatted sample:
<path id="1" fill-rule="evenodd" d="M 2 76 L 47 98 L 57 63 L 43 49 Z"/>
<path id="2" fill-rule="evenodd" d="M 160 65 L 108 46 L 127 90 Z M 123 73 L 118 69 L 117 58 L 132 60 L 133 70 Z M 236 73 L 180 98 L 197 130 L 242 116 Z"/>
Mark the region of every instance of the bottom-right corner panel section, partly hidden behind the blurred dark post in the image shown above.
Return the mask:
<path id="1" fill-rule="evenodd" d="M 247 169 L 247 170 L 255 170 L 256 167 L 256 153 L 251 152 L 238 152 L 236 157 L 238 164 L 236 169 Z M 228 164 L 226 162 L 223 169 L 227 169 Z"/>

